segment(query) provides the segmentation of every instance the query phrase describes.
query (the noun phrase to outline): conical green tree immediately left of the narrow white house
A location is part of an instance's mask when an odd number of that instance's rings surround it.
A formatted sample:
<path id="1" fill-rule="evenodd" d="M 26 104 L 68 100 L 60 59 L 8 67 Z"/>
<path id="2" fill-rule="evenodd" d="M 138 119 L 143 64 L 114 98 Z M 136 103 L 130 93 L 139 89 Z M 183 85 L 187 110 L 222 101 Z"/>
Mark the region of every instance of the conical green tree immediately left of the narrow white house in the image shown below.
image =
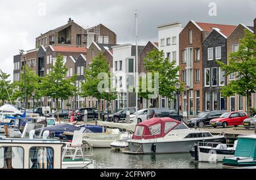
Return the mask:
<path id="1" fill-rule="evenodd" d="M 101 76 L 102 75 L 102 76 Z M 106 93 L 106 89 L 114 89 L 112 87 L 112 78 L 110 76 L 109 64 L 102 52 L 97 55 L 90 63 L 89 70 L 85 69 L 85 83 L 82 84 L 83 97 L 92 96 L 98 100 L 98 119 L 100 117 L 100 100 L 114 100 L 117 98 L 115 92 Z M 102 92 L 99 91 L 99 85 L 105 82 L 105 87 L 103 85 Z"/>

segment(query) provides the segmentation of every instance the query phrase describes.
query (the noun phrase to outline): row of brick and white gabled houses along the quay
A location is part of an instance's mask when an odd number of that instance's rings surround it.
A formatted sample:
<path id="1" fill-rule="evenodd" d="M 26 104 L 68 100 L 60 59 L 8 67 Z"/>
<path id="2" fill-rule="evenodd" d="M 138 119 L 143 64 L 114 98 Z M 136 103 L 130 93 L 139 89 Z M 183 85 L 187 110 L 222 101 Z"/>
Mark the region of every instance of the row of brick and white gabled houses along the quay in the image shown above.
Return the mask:
<path id="1" fill-rule="evenodd" d="M 139 74 L 146 70 L 143 58 L 153 49 L 163 50 L 164 56 L 180 66 L 180 82 L 184 89 L 180 93 L 180 110 L 183 115 L 195 116 L 205 110 L 246 110 L 246 98 L 234 96 L 224 98 L 221 96 L 221 87 L 233 80 L 234 75 L 225 78 L 224 72 L 216 60 L 228 63 L 229 54 L 238 49 L 240 39 L 245 29 L 255 33 L 254 27 L 246 25 L 225 25 L 196 23 L 189 21 L 185 27 L 181 22 L 160 25 L 158 28 L 158 42 L 151 42 L 139 46 L 138 69 Z M 54 36 L 54 38 L 52 37 Z M 92 59 L 102 52 L 107 59 L 110 73 L 114 75 L 113 85 L 117 88 L 118 98 L 112 101 L 110 109 L 116 110 L 128 106 L 135 106 L 134 93 L 126 89 L 135 83 L 135 46 L 132 44 L 117 44 L 117 36 L 113 31 L 99 24 L 92 28 L 82 28 L 69 19 L 68 24 L 53 29 L 36 38 L 36 49 L 27 51 L 26 63 L 32 67 L 39 76 L 46 76 L 57 54 L 64 56 L 68 67 L 67 78 L 77 74 L 76 87 L 81 91 L 81 83 L 85 82 L 84 68 L 89 68 Z M 20 67 L 23 57 L 14 56 L 14 80 L 19 80 Z M 139 108 L 149 108 L 151 100 L 138 99 Z M 42 98 L 41 105 L 50 106 L 54 101 Z M 60 102 L 59 102 L 60 103 Z M 68 105 L 69 104 L 69 105 Z M 176 100 L 159 97 L 159 105 L 163 108 L 177 109 Z M 250 96 L 251 106 L 256 106 L 256 96 Z M 62 108 L 100 106 L 106 110 L 104 100 L 98 102 L 93 97 L 80 97 L 75 95 L 61 104 Z"/>

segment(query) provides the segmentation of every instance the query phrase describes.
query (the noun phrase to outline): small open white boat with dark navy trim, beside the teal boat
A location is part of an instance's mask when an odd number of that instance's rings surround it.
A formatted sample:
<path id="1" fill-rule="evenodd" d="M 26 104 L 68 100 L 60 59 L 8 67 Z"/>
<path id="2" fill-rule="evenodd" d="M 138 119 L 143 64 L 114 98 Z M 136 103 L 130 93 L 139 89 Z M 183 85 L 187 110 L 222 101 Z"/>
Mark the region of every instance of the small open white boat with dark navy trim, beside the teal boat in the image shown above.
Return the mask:
<path id="1" fill-rule="evenodd" d="M 234 144 L 199 142 L 189 151 L 191 157 L 197 162 L 222 162 L 224 158 L 234 157 L 237 140 Z"/>

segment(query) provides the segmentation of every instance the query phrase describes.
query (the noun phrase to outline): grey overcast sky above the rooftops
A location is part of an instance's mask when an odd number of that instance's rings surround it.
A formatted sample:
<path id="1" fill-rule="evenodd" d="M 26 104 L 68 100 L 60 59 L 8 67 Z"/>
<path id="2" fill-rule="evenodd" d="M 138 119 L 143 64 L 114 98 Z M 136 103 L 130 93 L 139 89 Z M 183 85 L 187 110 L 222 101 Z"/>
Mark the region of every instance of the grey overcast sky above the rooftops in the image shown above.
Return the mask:
<path id="1" fill-rule="evenodd" d="M 209 15 L 209 3 L 216 3 L 216 16 Z M 67 23 L 72 18 L 84 27 L 102 23 L 117 34 L 118 44 L 133 43 L 134 14 L 138 10 L 140 45 L 157 40 L 156 27 L 189 20 L 253 26 L 255 0 L 1 0 L 0 68 L 13 77 L 13 56 L 19 49 L 35 48 L 40 33 Z"/>

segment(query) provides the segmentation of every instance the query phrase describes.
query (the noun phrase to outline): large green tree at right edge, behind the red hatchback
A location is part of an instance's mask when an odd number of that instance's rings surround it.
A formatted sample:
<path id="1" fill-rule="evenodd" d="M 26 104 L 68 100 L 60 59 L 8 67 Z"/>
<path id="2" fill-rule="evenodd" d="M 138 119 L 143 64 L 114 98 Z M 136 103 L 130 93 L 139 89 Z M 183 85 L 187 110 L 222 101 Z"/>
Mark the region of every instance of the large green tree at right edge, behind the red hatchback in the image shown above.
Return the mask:
<path id="1" fill-rule="evenodd" d="M 246 96 L 247 114 L 249 113 L 249 96 L 256 89 L 256 40 L 254 34 L 245 30 L 245 36 L 240 40 L 237 52 L 230 53 L 228 65 L 217 61 L 225 76 L 234 74 L 236 80 L 232 80 L 227 86 L 221 88 L 221 95 L 229 97 L 234 95 Z"/>

